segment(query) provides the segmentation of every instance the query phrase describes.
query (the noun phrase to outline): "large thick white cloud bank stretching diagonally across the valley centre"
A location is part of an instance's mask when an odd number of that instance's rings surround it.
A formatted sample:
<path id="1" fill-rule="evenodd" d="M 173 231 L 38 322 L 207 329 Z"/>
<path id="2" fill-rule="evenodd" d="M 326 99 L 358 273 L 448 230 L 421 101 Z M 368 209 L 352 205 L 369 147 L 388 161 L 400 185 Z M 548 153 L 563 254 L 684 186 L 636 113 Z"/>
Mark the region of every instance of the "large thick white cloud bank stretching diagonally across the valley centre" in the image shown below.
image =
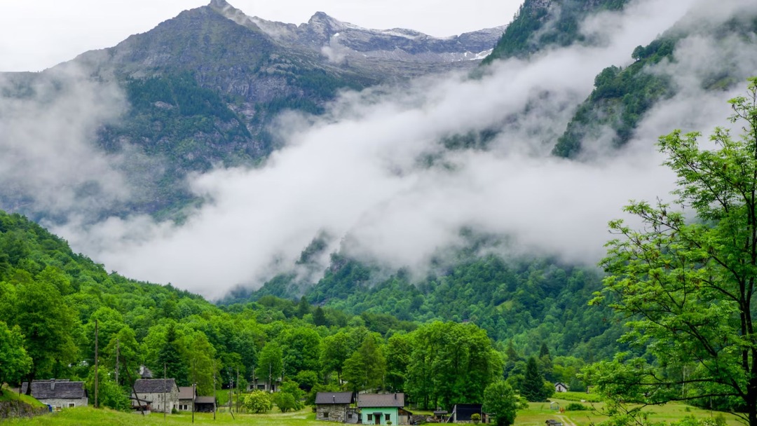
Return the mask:
<path id="1" fill-rule="evenodd" d="M 665 197 L 674 186 L 659 167 L 657 136 L 724 122 L 731 93 L 693 89 L 702 73 L 687 65 L 712 46 L 687 41 L 678 64 L 655 71 L 679 73 L 681 90 L 653 110 L 627 149 L 575 162 L 550 157 L 551 145 L 603 67 L 627 65 L 635 46 L 693 4 L 637 2 L 584 23 L 606 36 L 601 47 L 503 61 L 481 79 L 450 75 L 345 93 L 323 117 L 285 115 L 277 129 L 285 147 L 263 166 L 192 178 L 207 202 L 182 225 L 131 216 L 56 231 L 109 269 L 207 297 L 291 269 L 321 232 L 335 237 L 329 252 L 391 267 L 422 268 L 460 243 L 461 227 L 506 235 L 521 253 L 596 263 L 606 222 L 621 206 Z M 746 70 L 753 58 L 743 56 L 733 60 Z M 500 133 L 487 151 L 449 151 L 439 142 L 493 128 Z"/>

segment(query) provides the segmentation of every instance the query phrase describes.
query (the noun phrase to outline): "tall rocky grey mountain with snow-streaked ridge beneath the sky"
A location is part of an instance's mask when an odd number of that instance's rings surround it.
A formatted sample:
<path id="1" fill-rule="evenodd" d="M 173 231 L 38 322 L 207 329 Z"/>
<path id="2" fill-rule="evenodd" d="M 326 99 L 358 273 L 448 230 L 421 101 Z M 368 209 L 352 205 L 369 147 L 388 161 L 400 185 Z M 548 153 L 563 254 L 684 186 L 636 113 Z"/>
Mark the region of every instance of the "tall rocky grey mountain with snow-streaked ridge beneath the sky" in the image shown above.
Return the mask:
<path id="1" fill-rule="evenodd" d="M 107 154 L 128 157 L 119 167 L 140 191 L 99 217 L 178 217 L 196 201 L 184 182 L 189 173 L 255 166 L 279 147 L 269 126 L 283 110 L 319 114 L 342 89 L 470 70 L 501 33 L 437 39 L 412 30 L 366 30 L 320 12 L 294 26 L 213 0 L 43 73 L 5 75 L 11 86 L 26 89 L 3 95 L 39 95 L 35 88 L 48 81 L 70 86 L 70 70 L 115 82 L 126 94 L 126 111 L 103 123 L 96 138 Z M 18 191 L 0 189 L 0 197 L 40 217 Z"/>

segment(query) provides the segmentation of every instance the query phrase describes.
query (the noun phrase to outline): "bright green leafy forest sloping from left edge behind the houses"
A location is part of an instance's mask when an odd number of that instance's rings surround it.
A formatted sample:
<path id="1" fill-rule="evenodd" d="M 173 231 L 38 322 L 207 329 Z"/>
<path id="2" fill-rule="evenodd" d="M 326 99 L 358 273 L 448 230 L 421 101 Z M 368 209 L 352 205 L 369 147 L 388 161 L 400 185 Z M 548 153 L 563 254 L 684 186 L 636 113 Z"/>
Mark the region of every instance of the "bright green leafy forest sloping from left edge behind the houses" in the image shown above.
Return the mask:
<path id="1" fill-rule="evenodd" d="M 472 322 L 355 314 L 304 297 L 215 306 L 105 272 L 18 214 L 0 213 L 0 253 L 0 381 L 69 378 L 92 391 L 97 327 L 100 401 L 115 409 L 128 409 L 141 365 L 165 366 L 200 394 L 281 378 L 297 396 L 385 390 L 422 408 L 480 401 L 503 371 L 516 389 L 533 385 L 534 372 L 541 390 L 547 381 L 585 388 L 576 376 L 584 360 L 553 356 L 547 341 L 530 353 Z"/>

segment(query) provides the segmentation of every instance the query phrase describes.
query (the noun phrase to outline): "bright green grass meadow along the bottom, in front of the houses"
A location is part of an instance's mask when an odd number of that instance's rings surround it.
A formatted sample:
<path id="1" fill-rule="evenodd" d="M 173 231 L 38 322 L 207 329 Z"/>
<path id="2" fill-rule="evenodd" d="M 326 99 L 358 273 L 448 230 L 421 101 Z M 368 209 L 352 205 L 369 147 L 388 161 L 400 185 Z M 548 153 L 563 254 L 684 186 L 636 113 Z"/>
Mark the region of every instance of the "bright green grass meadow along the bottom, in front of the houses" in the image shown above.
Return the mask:
<path id="1" fill-rule="evenodd" d="M 567 406 L 571 401 L 556 400 L 560 406 Z M 601 403 L 584 403 L 586 406 L 593 406 L 595 409 L 601 409 Z M 709 412 L 703 409 L 696 409 L 683 404 L 667 404 L 665 406 L 656 406 L 649 409 L 653 414 L 650 419 L 653 421 L 678 421 L 687 415 L 693 415 L 696 418 L 709 418 L 717 415 L 717 412 Z M 308 407 L 299 412 L 281 413 L 276 410 L 269 414 L 234 414 L 232 418 L 228 412 L 219 412 L 216 419 L 213 420 L 212 414 L 195 413 L 195 424 L 213 424 L 238 425 L 249 424 L 251 426 L 325 426 L 332 424 L 324 421 L 316 421 L 315 413 Z M 729 426 L 741 424 L 733 415 L 724 415 Z M 566 411 L 563 413 L 550 409 L 550 403 L 530 403 L 528 409 L 519 410 L 515 426 L 544 426 L 544 422 L 549 419 L 562 421 L 565 426 L 590 426 L 606 418 L 599 415 L 597 411 Z M 113 424 L 116 426 L 174 426 L 179 424 L 192 424 L 191 414 L 173 414 L 164 418 L 163 414 L 154 413 L 147 416 L 140 414 L 114 412 L 107 409 L 93 409 L 91 407 L 64 409 L 61 412 L 55 412 L 51 415 L 42 415 L 30 419 L 14 419 L 2 422 L 3 426 L 78 426 L 78 425 L 99 425 Z"/>

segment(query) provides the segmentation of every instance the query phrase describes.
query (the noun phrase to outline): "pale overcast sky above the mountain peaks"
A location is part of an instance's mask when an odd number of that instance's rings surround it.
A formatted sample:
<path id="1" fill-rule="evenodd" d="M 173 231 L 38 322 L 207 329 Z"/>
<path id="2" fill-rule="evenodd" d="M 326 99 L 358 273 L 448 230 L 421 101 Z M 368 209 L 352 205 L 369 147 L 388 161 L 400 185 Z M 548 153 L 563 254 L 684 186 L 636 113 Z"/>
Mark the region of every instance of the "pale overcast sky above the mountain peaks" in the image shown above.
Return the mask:
<path id="1" fill-rule="evenodd" d="M 84 51 L 145 33 L 210 0 L 0 0 L 0 71 L 37 71 Z M 375 29 L 409 28 L 453 36 L 509 23 L 522 0 L 230 0 L 251 16 L 304 23 L 316 11 Z"/>

